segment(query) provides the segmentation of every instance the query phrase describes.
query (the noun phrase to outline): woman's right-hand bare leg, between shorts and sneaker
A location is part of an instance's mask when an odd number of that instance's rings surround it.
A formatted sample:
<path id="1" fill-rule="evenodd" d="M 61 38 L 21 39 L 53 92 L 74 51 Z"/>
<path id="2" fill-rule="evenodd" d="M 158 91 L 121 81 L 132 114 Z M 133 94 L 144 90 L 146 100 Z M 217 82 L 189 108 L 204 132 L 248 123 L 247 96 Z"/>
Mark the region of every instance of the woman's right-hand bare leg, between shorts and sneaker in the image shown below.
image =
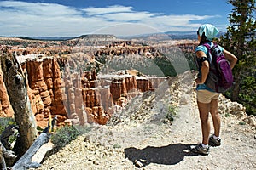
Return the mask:
<path id="1" fill-rule="evenodd" d="M 218 115 L 218 99 L 212 99 L 210 104 L 210 113 L 212 115 L 212 122 L 214 127 L 214 135 L 219 137 L 220 134 L 220 117 Z"/>

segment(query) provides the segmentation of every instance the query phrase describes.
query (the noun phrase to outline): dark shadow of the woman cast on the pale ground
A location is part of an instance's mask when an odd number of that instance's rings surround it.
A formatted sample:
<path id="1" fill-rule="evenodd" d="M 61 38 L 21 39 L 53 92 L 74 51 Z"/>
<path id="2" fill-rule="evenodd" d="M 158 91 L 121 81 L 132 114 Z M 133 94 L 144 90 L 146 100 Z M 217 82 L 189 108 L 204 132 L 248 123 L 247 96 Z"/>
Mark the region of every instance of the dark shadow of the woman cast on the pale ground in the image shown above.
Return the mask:
<path id="1" fill-rule="evenodd" d="M 150 163 L 174 165 L 183 161 L 184 156 L 198 156 L 191 151 L 194 144 L 169 144 L 167 146 L 148 146 L 142 150 L 134 147 L 125 148 L 125 158 L 137 167 L 145 167 Z"/>

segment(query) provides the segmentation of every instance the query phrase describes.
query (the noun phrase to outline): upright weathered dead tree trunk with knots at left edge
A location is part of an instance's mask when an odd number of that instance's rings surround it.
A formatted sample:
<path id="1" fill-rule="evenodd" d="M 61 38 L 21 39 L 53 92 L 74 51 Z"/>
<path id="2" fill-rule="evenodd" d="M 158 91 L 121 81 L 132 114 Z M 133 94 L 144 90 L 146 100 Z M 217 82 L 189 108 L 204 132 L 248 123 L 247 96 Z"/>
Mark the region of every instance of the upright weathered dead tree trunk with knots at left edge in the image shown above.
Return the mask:
<path id="1" fill-rule="evenodd" d="M 37 138 L 36 121 L 32 113 L 26 89 L 26 76 L 20 64 L 7 48 L 0 54 L 3 80 L 8 90 L 10 103 L 15 111 L 15 122 L 20 127 L 14 151 L 22 156 Z"/>

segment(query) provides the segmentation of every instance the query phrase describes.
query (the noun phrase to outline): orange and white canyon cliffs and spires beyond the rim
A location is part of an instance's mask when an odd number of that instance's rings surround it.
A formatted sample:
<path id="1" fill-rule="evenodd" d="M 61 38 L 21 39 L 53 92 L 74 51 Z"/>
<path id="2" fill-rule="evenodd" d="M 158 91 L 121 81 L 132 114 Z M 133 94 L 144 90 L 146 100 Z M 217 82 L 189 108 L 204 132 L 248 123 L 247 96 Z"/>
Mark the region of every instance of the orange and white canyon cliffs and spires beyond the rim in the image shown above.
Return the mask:
<path id="1" fill-rule="evenodd" d="M 171 46 L 163 45 L 160 52 L 154 46 L 111 36 L 84 36 L 61 42 L 20 38 L 2 38 L 1 41 L 11 44 L 7 48 L 10 54 L 16 55 L 26 74 L 27 94 L 40 128 L 47 127 L 49 117 L 53 116 L 57 116 L 57 126 L 86 122 L 106 124 L 132 98 L 154 91 L 168 78 L 145 75 L 132 67 L 119 71 L 109 69 L 106 67 L 109 60 L 132 58 L 131 64 L 141 62 L 141 66 L 144 59 L 165 58 L 161 54 L 163 49 L 175 47 L 191 52 L 195 48 L 195 42 L 172 41 Z M 2 70 L 0 92 L 0 116 L 13 117 Z"/>

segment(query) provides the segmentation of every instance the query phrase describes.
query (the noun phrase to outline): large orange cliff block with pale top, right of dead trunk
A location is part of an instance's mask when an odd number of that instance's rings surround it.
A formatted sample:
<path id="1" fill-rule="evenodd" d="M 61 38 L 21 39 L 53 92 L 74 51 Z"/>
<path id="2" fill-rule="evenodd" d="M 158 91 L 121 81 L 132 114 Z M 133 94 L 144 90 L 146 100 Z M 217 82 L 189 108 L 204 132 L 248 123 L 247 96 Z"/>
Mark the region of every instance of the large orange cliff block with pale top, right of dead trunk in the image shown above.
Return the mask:
<path id="1" fill-rule="evenodd" d="M 58 116 L 58 122 L 67 119 L 63 102 L 67 99 L 62 93 L 60 67 L 53 58 L 28 60 L 23 63 L 27 73 L 28 93 L 38 126 L 46 127 L 49 116 Z"/>

